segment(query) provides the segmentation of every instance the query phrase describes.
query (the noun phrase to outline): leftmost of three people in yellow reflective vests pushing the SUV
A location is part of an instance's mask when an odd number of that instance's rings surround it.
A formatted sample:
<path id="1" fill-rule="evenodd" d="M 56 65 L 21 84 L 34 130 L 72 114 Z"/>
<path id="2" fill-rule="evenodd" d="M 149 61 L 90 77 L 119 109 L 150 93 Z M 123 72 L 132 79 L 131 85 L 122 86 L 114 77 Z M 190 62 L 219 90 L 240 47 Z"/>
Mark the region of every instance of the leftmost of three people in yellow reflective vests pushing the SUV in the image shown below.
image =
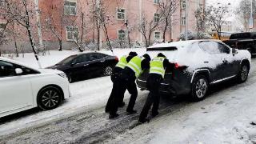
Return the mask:
<path id="1" fill-rule="evenodd" d="M 108 99 L 107 103 L 106 103 L 106 107 L 105 107 L 105 112 L 108 113 L 110 112 L 110 106 L 113 105 L 113 98 L 114 94 L 117 94 L 117 90 L 118 90 L 118 78 L 119 75 L 121 73 L 121 71 L 126 67 L 127 63 L 130 62 L 130 60 L 132 58 L 134 58 L 135 56 L 137 56 L 138 54 L 136 52 L 130 52 L 129 55 L 123 55 L 119 62 L 116 64 L 116 66 L 114 66 L 114 70 L 112 72 L 111 75 L 111 81 L 113 82 L 113 88 L 110 94 L 110 98 Z M 125 106 L 125 102 L 118 102 L 118 107 L 122 107 Z"/>

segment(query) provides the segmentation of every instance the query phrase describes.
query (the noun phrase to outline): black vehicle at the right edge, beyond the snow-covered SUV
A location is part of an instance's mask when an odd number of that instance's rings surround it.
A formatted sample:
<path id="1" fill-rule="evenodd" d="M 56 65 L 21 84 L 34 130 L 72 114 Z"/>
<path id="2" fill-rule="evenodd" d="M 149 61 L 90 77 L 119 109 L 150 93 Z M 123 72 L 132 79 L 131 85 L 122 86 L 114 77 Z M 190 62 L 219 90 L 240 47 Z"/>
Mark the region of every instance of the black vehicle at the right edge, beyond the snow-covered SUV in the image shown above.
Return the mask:
<path id="1" fill-rule="evenodd" d="M 230 39 L 223 42 L 238 50 L 248 50 L 252 56 L 256 56 L 256 32 L 231 34 Z"/>

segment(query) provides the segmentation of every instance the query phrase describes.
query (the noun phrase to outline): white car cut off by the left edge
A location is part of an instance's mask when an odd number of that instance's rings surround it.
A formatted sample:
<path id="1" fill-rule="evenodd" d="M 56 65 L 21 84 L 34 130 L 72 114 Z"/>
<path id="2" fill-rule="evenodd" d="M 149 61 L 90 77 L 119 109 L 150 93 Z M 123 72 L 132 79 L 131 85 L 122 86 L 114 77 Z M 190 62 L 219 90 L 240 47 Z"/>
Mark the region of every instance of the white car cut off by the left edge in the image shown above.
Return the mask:
<path id="1" fill-rule="evenodd" d="M 37 70 L 0 57 L 0 118 L 37 106 L 51 110 L 69 97 L 69 82 L 62 71 Z"/>

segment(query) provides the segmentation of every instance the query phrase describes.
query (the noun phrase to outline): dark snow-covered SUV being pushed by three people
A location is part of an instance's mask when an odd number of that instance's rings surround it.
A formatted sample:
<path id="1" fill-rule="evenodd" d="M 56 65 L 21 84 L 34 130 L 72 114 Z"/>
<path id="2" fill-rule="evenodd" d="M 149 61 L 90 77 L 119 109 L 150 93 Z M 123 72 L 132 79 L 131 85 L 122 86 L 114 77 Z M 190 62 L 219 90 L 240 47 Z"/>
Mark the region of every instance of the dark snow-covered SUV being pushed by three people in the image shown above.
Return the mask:
<path id="1" fill-rule="evenodd" d="M 210 85 L 237 78 L 245 82 L 250 70 L 248 50 L 236 50 L 218 40 L 193 40 L 163 43 L 147 48 L 154 58 L 158 53 L 174 66 L 166 70 L 161 84 L 162 93 L 172 95 L 191 94 L 194 100 L 205 98 Z M 146 90 L 145 71 L 137 80 L 138 87 Z"/>

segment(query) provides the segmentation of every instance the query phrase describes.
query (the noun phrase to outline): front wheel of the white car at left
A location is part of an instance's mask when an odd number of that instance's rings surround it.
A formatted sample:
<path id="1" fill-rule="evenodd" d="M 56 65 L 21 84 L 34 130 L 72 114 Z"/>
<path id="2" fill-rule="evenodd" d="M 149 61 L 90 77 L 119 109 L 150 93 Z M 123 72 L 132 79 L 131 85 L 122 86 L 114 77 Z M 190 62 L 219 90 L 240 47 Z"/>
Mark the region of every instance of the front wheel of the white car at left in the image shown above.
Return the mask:
<path id="1" fill-rule="evenodd" d="M 62 93 L 53 86 L 48 86 L 38 93 L 38 106 L 42 110 L 52 110 L 62 102 Z"/>

